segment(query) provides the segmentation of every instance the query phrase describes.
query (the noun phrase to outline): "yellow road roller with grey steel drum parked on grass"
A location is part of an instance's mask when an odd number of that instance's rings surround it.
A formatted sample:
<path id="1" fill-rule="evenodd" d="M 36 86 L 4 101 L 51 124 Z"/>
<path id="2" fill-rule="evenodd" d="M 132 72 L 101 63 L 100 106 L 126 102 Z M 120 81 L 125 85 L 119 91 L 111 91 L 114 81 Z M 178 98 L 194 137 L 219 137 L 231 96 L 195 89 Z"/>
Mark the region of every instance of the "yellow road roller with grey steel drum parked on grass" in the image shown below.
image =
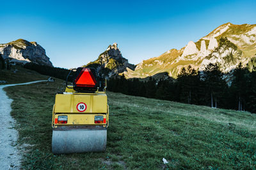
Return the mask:
<path id="1" fill-rule="evenodd" d="M 70 70 L 66 90 L 56 94 L 52 109 L 52 153 L 102 152 L 108 125 L 106 80 L 93 68 Z"/>

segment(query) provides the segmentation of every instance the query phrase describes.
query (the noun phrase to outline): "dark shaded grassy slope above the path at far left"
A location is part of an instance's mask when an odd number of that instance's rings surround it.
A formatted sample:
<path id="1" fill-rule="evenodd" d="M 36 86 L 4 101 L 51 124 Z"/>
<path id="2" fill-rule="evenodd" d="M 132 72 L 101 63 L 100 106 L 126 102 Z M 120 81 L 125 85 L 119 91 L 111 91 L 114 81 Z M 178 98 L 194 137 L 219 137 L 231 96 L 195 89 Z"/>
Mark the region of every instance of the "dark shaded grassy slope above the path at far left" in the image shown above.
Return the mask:
<path id="1" fill-rule="evenodd" d="M 0 71 L 0 80 L 7 81 L 7 83 L 0 83 L 0 85 L 26 83 L 36 80 L 47 80 L 47 78 L 49 78 L 49 76 L 44 76 L 42 74 L 36 73 L 36 71 L 25 69 L 19 65 L 12 66 L 11 70 L 3 69 Z"/>

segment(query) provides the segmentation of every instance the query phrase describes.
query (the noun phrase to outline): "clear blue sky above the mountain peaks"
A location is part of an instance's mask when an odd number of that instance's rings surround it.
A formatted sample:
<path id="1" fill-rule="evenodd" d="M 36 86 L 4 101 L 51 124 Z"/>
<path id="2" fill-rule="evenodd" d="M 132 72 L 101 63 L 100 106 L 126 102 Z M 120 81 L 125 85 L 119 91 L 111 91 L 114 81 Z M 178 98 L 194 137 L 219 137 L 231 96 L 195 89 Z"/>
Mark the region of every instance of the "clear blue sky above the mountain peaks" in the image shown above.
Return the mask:
<path id="1" fill-rule="evenodd" d="M 1 1 L 0 43 L 42 45 L 56 67 L 78 67 L 118 43 L 138 64 L 221 24 L 256 24 L 256 1 Z"/>

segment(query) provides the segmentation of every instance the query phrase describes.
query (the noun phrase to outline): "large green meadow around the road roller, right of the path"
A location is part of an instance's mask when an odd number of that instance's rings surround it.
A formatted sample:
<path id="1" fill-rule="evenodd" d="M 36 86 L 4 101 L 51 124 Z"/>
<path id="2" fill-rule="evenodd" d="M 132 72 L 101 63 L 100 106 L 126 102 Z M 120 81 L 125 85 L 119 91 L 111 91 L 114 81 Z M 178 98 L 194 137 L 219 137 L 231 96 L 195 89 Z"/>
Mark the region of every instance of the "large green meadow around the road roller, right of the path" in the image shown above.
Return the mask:
<path id="1" fill-rule="evenodd" d="M 256 115 L 108 92 L 106 152 L 53 155 L 52 105 L 64 82 L 8 87 L 23 169 L 253 169 Z M 168 164 L 163 164 L 163 158 Z"/>

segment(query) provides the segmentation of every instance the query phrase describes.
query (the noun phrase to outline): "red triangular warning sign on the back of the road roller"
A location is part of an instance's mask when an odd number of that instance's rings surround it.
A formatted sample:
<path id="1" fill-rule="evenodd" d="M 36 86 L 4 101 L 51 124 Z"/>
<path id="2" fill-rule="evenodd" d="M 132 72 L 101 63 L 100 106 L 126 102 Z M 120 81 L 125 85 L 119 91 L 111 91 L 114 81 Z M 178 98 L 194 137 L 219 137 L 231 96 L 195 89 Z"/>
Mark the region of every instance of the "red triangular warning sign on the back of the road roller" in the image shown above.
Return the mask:
<path id="1" fill-rule="evenodd" d="M 96 80 L 89 68 L 83 68 L 75 80 L 77 87 L 95 87 Z"/>

